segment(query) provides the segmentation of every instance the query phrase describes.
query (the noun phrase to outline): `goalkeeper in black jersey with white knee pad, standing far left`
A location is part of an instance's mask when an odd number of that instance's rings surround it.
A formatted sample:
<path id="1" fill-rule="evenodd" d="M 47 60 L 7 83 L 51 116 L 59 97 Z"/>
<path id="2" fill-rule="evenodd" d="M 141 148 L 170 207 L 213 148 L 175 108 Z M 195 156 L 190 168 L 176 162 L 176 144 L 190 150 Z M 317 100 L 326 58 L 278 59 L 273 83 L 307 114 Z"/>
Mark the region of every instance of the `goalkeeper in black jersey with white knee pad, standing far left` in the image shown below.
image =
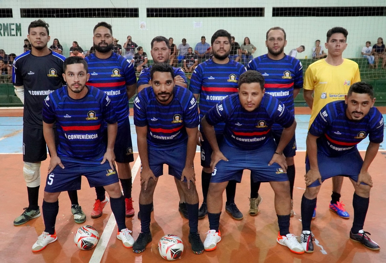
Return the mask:
<path id="1" fill-rule="evenodd" d="M 43 136 L 42 108 L 47 95 L 63 86 L 64 56 L 47 47 L 50 39 L 48 24 L 35 20 L 28 26 L 28 39 L 32 49 L 16 57 L 13 63 L 12 82 L 15 93 L 24 104 L 23 113 L 23 175 L 27 184 L 28 207 L 15 219 L 19 226 L 40 216 L 38 205 L 41 161 L 47 159 L 47 146 Z M 86 221 L 78 204 L 76 191 L 68 192 L 71 213 L 76 223 Z"/>

